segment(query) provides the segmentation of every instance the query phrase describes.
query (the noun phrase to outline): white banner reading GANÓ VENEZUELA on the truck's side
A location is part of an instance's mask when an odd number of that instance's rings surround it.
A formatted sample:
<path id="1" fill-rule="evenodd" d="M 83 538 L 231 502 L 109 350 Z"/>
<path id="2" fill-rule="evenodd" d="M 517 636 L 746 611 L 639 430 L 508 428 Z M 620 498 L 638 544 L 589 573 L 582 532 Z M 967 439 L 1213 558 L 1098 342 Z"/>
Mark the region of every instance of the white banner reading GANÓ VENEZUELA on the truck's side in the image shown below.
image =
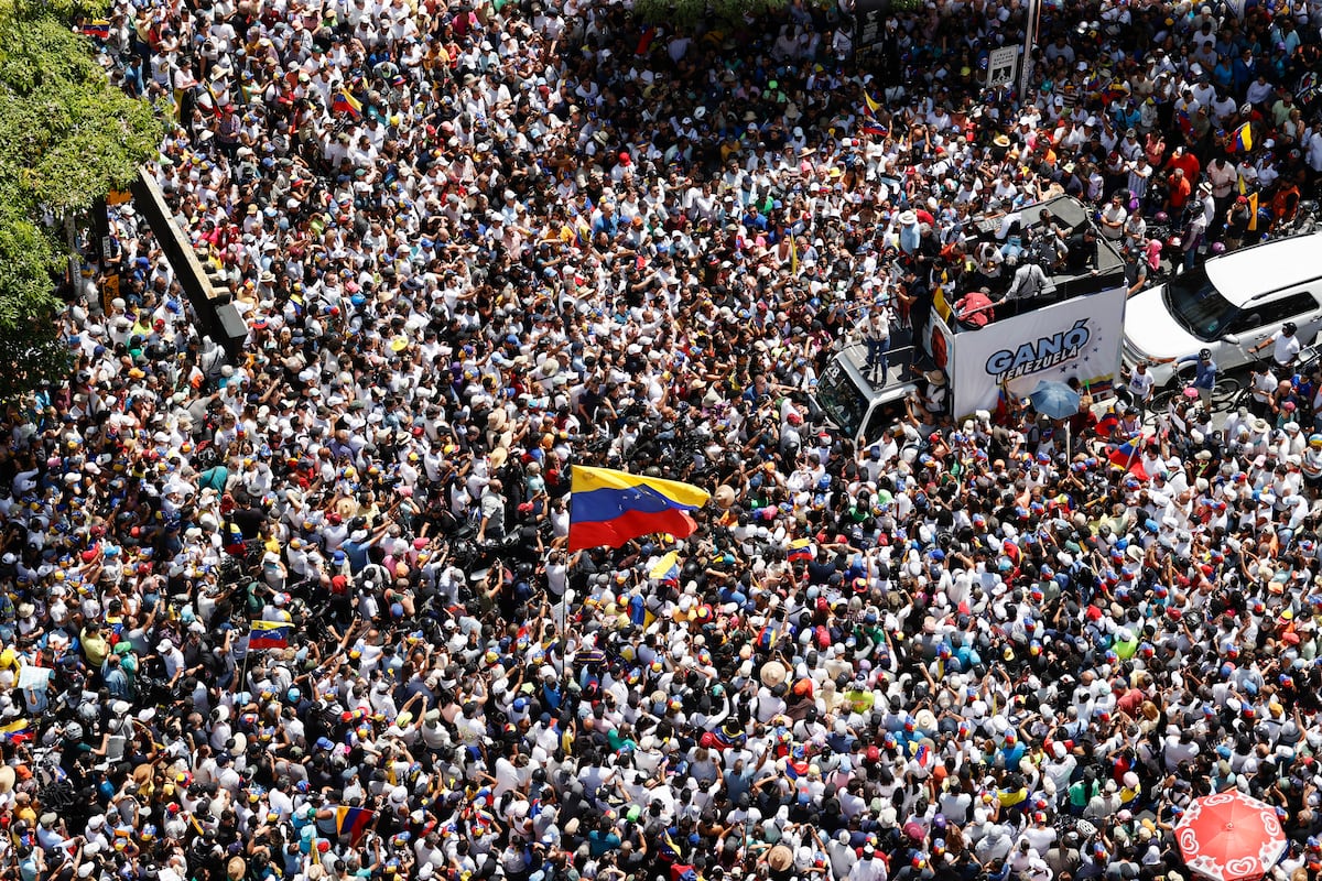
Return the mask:
<path id="1" fill-rule="evenodd" d="M 1027 398 L 1043 379 L 1077 378 L 1093 395 L 1110 388 L 1120 370 L 1125 288 L 1075 297 L 954 334 L 953 411 L 994 409 L 999 390 Z"/>

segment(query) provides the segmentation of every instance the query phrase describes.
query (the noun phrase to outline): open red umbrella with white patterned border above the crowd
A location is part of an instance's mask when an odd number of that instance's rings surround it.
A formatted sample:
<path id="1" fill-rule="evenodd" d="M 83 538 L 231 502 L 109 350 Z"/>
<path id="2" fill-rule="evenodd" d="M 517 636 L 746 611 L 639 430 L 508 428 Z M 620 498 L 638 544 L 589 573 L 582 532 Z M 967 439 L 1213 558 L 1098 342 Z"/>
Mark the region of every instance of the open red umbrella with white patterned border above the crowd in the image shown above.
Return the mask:
<path id="1" fill-rule="evenodd" d="M 1212 881 L 1260 878 L 1286 844 L 1276 808 L 1239 790 L 1194 799 L 1175 839 L 1185 865 Z"/>

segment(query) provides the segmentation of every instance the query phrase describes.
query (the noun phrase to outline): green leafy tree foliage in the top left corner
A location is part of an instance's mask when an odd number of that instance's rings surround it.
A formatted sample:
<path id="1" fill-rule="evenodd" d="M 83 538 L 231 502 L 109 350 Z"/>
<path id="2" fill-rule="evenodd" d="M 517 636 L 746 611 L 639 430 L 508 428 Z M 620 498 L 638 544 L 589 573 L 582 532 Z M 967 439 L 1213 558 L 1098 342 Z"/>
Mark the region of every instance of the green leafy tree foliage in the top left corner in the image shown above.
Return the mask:
<path id="1" fill-rule="evenodd" d="M 127 186 L 164 131 L 70 28 L 97 12 L 0 0 L 0 399 L 67 370 L 53 324 L 62 222 Z"/>

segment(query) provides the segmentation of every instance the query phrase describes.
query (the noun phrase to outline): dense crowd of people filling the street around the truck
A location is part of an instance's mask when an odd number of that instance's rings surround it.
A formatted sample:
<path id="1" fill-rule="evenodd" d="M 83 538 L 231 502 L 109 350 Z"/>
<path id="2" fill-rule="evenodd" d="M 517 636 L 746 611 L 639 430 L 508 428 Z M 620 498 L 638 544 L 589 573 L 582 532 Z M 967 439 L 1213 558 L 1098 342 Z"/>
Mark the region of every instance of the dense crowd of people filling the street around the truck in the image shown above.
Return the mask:
<path id="1" fill-rule="evenodd" d="M 249 338 L 123 205 L 5 412 L 4 877 L 1181 881 L 1239 789 L 1317 878 L 1322 375 L 1216 429 L 1085 399 L 1068 449 L 939 374 L 814 420 L 842 342 L 1006 295 L 976 217 L 1064 193 L 1195 265 L 1315 193 L 1315 0 L 1046 4 L 984 88 L 1025 24 L 116 3 Z M 584 464 L 714 498 L 571 553 Z"/>

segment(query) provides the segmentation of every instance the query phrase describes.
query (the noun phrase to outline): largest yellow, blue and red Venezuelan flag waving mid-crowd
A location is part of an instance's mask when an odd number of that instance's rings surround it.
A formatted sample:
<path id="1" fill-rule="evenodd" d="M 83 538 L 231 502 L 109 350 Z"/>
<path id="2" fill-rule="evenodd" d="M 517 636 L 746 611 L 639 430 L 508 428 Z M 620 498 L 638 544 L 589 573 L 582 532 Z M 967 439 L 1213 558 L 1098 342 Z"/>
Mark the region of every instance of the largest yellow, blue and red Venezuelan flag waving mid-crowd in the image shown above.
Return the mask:
<path id="1" fill-rule="evenodd" d="M 574 466 L 570 490 L 570 551 L 617 548 L 649 532 L 687 538 L 698 528 L 689 511 L 711 498 L 689 483 L 582 465 Z"/>

